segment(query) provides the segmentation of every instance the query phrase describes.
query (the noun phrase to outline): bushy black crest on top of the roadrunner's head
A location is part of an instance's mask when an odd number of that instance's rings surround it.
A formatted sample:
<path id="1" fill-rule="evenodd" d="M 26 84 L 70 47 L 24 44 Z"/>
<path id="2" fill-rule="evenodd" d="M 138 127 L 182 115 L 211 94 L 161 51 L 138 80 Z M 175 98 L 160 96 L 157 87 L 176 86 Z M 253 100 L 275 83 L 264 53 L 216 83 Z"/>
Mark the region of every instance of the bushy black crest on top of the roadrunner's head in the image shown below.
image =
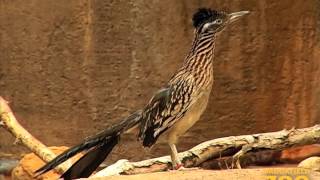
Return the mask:
<path id="1" fill-rule="evenodd" d="M 192 17 L 193 26 L 198 28 L 203 23 L 216 19 L 219 15 L 216 10 L 200 8 Z"/>

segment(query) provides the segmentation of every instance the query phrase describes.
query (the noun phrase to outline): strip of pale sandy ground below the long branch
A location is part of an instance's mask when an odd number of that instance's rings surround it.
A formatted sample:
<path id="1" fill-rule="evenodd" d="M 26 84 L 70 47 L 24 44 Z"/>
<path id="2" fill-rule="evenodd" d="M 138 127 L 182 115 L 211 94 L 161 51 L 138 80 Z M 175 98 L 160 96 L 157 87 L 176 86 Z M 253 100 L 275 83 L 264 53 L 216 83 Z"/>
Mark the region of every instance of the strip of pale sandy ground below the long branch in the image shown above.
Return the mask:
<path id="1" fill-rule="evenodd" d="M 319 172 L 310 172 L 300 168 L 266 168 L 266 169 L 228 169 L 228 170 L 185 170 L 158 172 L 138 175 L 121 175 L 95 180 L 263 180 L 280 179 L 289 176 L 289 179 L 316 180 L 320 179 Z M 91 178 L 90 178 L 91 179 Z"/>

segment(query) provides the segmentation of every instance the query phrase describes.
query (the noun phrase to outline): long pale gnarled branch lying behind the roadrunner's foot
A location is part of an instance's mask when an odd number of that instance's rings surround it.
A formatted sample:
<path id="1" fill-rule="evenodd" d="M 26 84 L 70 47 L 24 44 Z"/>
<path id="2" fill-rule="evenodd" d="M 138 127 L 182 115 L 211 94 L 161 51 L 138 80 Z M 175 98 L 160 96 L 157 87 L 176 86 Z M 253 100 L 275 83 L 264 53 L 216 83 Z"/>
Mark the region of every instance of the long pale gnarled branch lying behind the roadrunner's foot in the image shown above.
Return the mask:
<path id="1" fill-rule="evenodd" d="M 320 126 L 304 129 L 282 130 L 278 132 L 230 136 L 204 142 L 198 146 L 179 153 L 179 158 L 185 167 L 198 166 L 201 163 L 223 156 L 234 155 L 240 158 L 248 152 L 262 150 L 282 150 L 292 146 L 315 144 L 320 141 Z M 99 171 L 93 177 L 103 177 L 119 174 L 139 174 L 158 172 L 169 169 L 169 156 L 148 159 L 140 162 L 119 160 L 115 164 Z"/>

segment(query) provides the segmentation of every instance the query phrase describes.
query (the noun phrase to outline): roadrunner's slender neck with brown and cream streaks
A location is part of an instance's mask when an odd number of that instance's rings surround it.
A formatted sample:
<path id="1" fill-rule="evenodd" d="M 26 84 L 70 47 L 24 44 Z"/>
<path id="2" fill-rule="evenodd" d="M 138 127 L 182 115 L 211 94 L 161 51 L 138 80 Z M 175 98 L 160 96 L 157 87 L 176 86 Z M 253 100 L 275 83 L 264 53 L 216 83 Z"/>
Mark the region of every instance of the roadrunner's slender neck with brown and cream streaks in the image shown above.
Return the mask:
<path id="1" fill-rule="evenodd" d="M 214 33 L 196 34 L 190 52 L 185 59 L 184 67 L 190 70 L 210 70 L 214 57 L 214 45 Z"/>

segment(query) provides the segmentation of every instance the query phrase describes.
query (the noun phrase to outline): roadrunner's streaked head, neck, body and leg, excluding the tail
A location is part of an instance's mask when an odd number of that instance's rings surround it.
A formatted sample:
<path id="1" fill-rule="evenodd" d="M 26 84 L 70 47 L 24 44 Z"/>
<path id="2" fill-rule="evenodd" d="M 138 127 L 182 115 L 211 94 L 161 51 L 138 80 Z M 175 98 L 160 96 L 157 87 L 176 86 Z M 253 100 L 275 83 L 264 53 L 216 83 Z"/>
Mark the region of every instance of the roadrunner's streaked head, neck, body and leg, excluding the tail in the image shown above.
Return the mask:
<path id="1" fill-rule="evenodd" d="M 206 109 L 214 79 L 215 37 L 231 18 L 224 12 L 210 9 L 200 9 L 193 16 L 195 38 L 183 66 L 142 113 L 139 139 L 144 146 L 151 146 L 166 132 L 175 168 L 181 166 L 175 144 Z"/>

